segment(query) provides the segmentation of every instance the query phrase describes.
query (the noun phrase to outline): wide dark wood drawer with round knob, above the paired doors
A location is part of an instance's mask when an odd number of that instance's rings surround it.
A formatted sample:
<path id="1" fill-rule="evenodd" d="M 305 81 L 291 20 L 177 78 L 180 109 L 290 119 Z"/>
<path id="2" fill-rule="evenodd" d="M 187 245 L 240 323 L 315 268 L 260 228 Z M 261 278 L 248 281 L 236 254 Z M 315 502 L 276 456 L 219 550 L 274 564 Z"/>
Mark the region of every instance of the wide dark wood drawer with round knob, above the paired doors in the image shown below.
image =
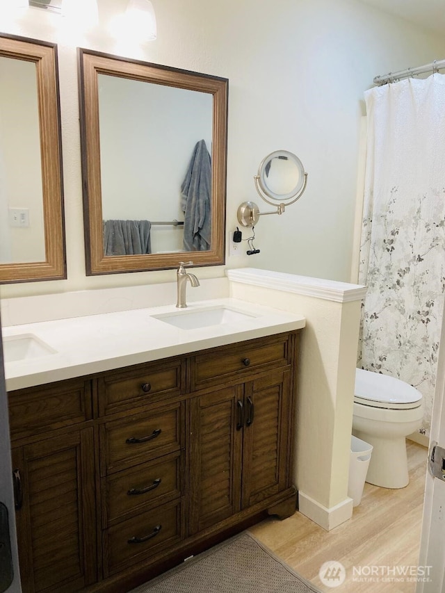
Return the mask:
<path id="1" fill-rule="evenodd" d="M 220 382 L 229 375 L 243 377 L 251 371 L 289 364 L 289 336 L 272 336 L 214 348 L 192 359 L 192 389 Z"/>

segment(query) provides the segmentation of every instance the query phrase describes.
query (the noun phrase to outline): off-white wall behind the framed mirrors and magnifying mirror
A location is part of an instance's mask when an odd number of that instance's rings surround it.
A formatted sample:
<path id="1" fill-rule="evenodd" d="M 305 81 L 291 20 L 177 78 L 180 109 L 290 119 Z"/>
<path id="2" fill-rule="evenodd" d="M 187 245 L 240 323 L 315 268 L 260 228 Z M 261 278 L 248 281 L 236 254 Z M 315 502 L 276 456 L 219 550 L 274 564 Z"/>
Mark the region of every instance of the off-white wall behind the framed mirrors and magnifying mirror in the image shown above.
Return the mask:
<path id="1" fill-rule="evenodd" d="M 356 0 L 154 0 L 158 39 L 119 47 L 104 26 L 124 0 L 99 0 L 102 29 L 70 37 L 60 17 L 29 9 L 2 20 L 6 33 L 58 42 L 68 279 L 2 286 L 0 295 L 126 286 L 174 279 L 174 270 L 85 276 L 76 46 L 90 47 L 229 79 L 227 229 L 236 209 L 255 200 L 253 176 L 276 149 L 295 152 L 309 173 L 305 195 L 284 216 L 257 225 L 256 266 L 348 280 L 353 238 L 359 120 L 373 76 L 445 57 L 445 40 Z M 244 231 L 244 236 L 248 234 Z M 219 277 L 223 268 L 202 268 Z"/>

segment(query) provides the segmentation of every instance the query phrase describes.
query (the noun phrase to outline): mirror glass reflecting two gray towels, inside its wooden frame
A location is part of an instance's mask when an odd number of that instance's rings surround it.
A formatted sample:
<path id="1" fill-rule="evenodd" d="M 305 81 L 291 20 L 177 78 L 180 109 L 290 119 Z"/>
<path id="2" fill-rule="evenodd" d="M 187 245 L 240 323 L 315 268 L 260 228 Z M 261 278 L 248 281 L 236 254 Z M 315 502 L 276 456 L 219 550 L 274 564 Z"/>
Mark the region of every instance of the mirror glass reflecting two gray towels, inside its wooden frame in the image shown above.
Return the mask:
<path id="1" fill-rule="evenodd" d="M 98 75 L 104 254 L 207 251 L 213 97 Z"/>

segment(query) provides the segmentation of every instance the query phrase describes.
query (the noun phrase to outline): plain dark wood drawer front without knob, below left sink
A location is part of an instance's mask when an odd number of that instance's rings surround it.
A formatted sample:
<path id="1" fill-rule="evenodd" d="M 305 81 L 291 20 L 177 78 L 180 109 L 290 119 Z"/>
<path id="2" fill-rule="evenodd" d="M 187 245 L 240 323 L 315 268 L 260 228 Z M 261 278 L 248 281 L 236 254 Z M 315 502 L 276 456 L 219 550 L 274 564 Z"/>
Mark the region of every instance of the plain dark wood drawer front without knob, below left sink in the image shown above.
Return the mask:
<path id="1" fill-rule="evenodd" d="M 91 418 L 90 382 L 68 380 L 8 393 L 11 439 Z"/>

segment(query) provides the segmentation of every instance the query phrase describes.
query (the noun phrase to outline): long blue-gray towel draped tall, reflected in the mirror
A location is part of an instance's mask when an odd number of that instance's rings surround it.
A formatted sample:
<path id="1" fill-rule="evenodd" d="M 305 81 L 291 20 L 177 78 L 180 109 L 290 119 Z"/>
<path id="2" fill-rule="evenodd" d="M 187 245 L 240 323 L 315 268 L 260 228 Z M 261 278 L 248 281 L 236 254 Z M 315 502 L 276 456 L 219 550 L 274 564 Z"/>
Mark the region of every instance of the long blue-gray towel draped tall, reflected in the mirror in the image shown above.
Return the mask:
<path id="1" fill-rule="evenodd" d="M 181 185 L 184 250 L 208 251 L 211 243 L 211 159 L 204 140 L 193 149 Z"/>

